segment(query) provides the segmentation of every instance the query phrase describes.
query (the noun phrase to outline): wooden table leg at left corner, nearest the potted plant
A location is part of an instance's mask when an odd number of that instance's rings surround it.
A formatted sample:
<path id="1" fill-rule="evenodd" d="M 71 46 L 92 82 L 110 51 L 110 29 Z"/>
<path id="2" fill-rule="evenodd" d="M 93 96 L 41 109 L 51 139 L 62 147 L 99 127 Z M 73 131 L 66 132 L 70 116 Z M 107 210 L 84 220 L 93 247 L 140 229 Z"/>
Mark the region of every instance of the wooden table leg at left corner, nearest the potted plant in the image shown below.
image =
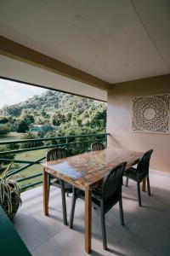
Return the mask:
<path id="1" fill-rule="evenodd" d="M 43 213 L 48 215 L 48 172 L 43 169 Z"/>

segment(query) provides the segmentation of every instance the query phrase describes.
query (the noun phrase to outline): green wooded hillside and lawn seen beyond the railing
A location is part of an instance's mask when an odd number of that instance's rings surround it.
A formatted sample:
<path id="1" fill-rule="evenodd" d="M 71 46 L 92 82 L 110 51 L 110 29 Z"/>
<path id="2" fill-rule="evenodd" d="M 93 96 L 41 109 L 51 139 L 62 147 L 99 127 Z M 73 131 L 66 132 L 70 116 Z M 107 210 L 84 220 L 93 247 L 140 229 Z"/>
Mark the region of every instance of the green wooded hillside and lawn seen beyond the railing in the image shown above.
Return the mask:
<path id="1" fill-rule="evenodd" d="M 80 154 L 90 150 L 90 144 L 97 138 L 104 140 L 104 137 L 74 137 L 77 135 L 92 135 L 105 133 L 106 124 L 106 104 L 105 102 L 94 101 L 81 96 L 72 96 L 58 91 L 47 90 L 41 96 L 33 96 L 26 102 L 21 102 L 12 106 L 5 106 L 0 109 L 0 136 L 10 131 L 15 131 L 21 139 L 29 139 L 25 143 L 13 143 L 1 145 L 0 151 L 10 151 L 14 149 L 26 149 L 51 145 L 65 144 L 69 154 Z M 17 133 L 19 132 L 19 133 Z M 63 138 L 72 136 L 70 138 Z M 53 140 L 31 139 L 54 137 Z M 56 137 L 58 137 L 56 139 Z M 60 137 L 60 138 L 59 138 Z M 17 138 L 16 138 L 17 139 Z M 0 138 L 1 140 L 1 138 Z M 7 165 L 6 159 L 14 160 L 17 157 L 21 160 L 35 160 L 44 156 L 44 149 L 29 151 L 25 154 L 1 155 L 0 171 Z M 35 153 L 34 153 L 35 152 Z M 34 155 L 35 154 L 35 155 Z M 24 155 L 24 159 L 23 159 Z M 3 160 L 5 159 L 5 160 Z M 14 163 L 14 169 L 18 169 L 23 164 Z M 16 174 L 15 178 L 31 176 L 39 171 L 39 166 L 31 166 L 25 171 Z M 41 177 L 25 181 L 22 185 L 40 181 Z M 20 183 L 21 184 L 21 183 Z"/>

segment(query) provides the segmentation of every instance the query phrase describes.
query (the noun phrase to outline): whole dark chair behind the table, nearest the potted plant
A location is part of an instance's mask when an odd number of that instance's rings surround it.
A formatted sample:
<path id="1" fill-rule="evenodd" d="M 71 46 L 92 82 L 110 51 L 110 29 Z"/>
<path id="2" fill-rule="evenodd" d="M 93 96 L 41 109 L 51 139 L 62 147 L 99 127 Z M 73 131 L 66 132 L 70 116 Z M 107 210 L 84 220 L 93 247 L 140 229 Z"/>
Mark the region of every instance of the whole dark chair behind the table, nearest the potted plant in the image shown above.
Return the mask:
<path id="1" fill-rule="evenodd" d="M 46 154 L 46 160 L 59 160 L 68 156 L 68 152 L 65 148 L 53 148 Z M 62 207 L 63 207 L 63 222 L 67 224 L 67 214 L 66 214 L 66 202 L 65 193 L 72 192 L 72 186 L 69 183 L 65 183 L 63 180 L 48 174 L 48 191 L 50 191 L 50 186 L 55 186 L 61 189 Z"/>

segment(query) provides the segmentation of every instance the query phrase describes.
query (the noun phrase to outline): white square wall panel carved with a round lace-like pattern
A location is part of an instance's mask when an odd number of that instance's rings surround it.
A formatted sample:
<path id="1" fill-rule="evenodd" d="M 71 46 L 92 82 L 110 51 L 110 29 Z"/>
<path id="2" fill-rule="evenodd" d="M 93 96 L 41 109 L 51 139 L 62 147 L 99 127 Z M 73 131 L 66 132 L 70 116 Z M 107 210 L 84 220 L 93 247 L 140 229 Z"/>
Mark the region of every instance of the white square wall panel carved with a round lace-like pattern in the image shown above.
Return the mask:
<path id="1" fill-rule="evenodd" d="M 133 97 L 133 131 L 169 133 L 170 96 Z"/>

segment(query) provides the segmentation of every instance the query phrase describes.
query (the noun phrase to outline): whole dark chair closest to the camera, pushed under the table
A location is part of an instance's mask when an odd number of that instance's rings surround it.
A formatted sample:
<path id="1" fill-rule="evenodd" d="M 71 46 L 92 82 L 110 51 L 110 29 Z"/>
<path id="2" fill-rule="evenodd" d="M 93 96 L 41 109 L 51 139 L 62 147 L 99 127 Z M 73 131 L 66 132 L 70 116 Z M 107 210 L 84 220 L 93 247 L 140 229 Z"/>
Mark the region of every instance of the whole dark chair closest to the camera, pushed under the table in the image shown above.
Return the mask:
<path id="1" fill-rule="evenodd" d="M 94 190 L 92 193 L 92 203 L 96 207 L 99 207 L 101 213 L 101 230 L 103 236 L 103 247 L 107 249 L 106 233 L 105 233 L 105 213 L 111 210 L 111 207 L 119 202 L 121 224 L 124 225 L 123 210 L 122 210 L 122 175 L 125 169 L 126 163 L 122 163 L 119 166 L 113 168 L 108 172 L 99 189 Z M 72 205 L 71 205 L 71 218 L 70 228 L 73 225 L 73 218 L 75 212 L 75 205 L 77 198 L 84 200 L 84 192 L 80 189 L 73 189 Z"/>

